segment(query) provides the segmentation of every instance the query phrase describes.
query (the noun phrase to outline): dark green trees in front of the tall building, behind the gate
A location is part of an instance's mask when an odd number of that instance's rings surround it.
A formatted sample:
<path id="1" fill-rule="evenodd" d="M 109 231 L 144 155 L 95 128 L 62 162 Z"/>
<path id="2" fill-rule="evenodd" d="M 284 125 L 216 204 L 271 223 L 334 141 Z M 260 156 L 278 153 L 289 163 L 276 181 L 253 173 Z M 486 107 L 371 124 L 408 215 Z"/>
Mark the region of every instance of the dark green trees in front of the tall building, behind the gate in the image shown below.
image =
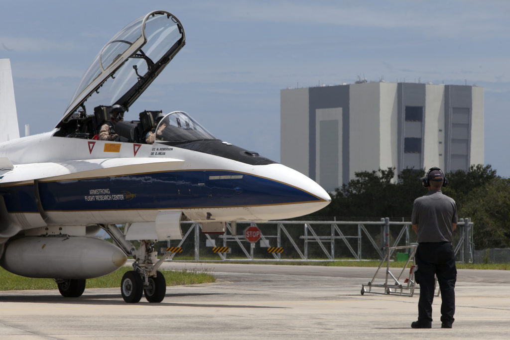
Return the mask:
<path id="1" fill-rule="evenodd" d="M 407 218 L 413 201 L 427 192 L 423 169 L 404 169 L 395 181 L 395 169 L 361 171 L 331 193 L 331 203 L 314 217 Z M 443 192 L 457 203 L 459 218 L 474 223 L 477 249 L 510 247 L 510 179 L 502 178 L 490 165 L 473 165 L 469 170 L 446 174 Z"/>

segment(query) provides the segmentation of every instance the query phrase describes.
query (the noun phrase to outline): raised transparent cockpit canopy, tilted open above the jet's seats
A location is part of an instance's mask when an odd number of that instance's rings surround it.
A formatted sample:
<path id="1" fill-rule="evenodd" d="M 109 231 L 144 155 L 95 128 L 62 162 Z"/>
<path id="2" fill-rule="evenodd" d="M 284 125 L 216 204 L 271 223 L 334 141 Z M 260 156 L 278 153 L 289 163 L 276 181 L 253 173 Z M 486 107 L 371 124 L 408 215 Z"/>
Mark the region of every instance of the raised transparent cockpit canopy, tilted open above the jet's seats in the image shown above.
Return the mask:
<path id="1" fill-rule="evenodd" d="M 120 105 L 127 111 L 185 40 L 181 22 L 169 12 L 150 12 L 128 24 L 101 48 L 57 127 L 73 113 L 92 113 L 93 107 L 86 107 L 91 96 L 101 105 Z"/>

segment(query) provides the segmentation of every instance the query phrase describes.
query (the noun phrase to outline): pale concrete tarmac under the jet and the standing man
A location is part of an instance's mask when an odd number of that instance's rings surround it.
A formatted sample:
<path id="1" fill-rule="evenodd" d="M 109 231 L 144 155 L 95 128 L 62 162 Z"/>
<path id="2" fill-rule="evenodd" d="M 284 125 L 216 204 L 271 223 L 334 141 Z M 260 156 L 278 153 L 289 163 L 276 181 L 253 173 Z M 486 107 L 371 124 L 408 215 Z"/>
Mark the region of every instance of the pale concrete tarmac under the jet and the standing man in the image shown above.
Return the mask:
<path id="1" fill-rule="evenodd" d="M 441 297 L 432 329 L 411 329 L 418 294 L 360 294 L 376 268 L 165 263 L 217 282 L 169 286 L 165 300 L 126 304 L 120 289 L 0 292 L 1 339 L 508 338 L 510 271 L 459 270 L 452 329 Z M 393 274 L 400 271 L 393 269 Z M 384 271 L 381 272 L 384 275 Z M 384 282 L 382 275 L 375 283 Z M 382 292 L 374 287 L 373 291 Z"/>

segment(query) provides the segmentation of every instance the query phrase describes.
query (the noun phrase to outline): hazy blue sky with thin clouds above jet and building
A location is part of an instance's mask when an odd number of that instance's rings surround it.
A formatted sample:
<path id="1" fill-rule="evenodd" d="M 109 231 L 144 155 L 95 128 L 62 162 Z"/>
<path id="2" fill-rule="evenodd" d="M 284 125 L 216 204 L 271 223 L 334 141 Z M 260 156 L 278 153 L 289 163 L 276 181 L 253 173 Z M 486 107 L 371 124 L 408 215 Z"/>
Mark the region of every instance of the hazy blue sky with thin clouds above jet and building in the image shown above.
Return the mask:
<path id="1" fill-rule="evenodd" d="M 510 176 L 510 2 L 3 2 L 21 135 L 52 129 L 99 49 L 151 10 L 186 46 L 132 107 L 188 112 L 217 138 L 279 160 L 279 91 L 368 81 L 484 88 L 485 161 Z M 126 116 L 129 117 L 129 116 Z"/>

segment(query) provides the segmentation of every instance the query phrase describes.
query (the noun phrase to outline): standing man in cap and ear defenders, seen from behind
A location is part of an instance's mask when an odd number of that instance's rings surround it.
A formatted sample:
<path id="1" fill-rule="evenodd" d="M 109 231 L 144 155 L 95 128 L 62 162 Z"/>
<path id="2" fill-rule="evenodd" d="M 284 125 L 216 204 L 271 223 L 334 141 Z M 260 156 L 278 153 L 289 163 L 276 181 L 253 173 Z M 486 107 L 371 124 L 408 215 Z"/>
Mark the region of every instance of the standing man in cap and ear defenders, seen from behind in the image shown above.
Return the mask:
<path id="1" fill-rule="evenodd" d="M 413 230 L 418 234 L 416 250 L 416 281 L 420 284 L 418 321 L 412 328 L 431 328 L 432 300 L 435 278 L 441 289 L 441 327 L 451 328 L 455 313 L 455 254 L 451 245 L 452 232 L 457 226 L 455 201 L 441 192 L 448 184 L 439 168 L 428 170 L 423 185 L 428 193 L 417 198 L 413 204 Z"/>

